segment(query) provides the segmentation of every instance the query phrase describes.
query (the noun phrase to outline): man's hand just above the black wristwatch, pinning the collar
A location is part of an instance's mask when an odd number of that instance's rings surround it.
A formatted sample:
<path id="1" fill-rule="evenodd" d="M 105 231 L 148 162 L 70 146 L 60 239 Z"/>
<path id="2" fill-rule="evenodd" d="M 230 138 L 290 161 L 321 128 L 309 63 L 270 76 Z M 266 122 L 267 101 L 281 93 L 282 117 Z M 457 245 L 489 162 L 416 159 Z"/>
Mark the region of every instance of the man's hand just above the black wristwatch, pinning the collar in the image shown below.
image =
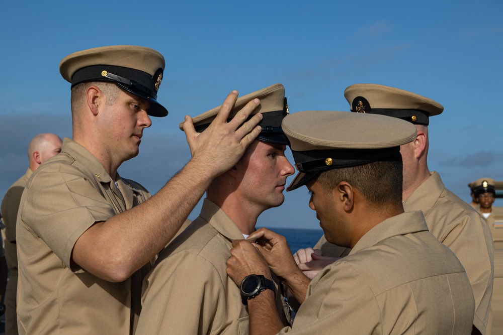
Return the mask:
<path id="1" fill-rule="evenodd" d="M 266 260 L 249 241 L 232 242 L 230 254 L 227 260 L 227 274 L 238 287 L 244 277 L 251 274 L 264 275 L 267 279 L 272 279 Z"/>

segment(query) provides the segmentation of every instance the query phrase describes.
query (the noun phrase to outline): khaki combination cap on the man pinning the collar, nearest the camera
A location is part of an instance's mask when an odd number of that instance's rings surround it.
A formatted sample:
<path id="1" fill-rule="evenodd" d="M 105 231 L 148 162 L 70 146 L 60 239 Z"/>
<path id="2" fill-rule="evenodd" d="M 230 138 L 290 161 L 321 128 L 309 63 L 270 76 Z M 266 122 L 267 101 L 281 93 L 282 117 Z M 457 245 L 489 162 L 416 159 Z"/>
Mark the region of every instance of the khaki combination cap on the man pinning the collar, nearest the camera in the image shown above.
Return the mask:
<path id="1" fill-rule="evenodd" d="M 287 191 L 322 171 L 392 157 L 417 136 L 416 128 L 403 120 L 332 110 L 294 113 L 283 120 L 282 127 L 299 171 Z"/>

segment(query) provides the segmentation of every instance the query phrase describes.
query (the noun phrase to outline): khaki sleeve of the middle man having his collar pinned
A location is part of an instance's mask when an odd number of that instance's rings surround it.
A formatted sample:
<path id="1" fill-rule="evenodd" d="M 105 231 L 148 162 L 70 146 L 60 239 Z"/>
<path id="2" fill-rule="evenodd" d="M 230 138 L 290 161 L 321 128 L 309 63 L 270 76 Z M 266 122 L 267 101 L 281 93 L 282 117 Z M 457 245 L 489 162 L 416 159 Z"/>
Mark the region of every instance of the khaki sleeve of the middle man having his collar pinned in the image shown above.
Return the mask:
<path id="1" fill-rule="evenodd" d="M 163 259 L 145 278 L 142 290 L 138 334 L 221 333 L 225 325 L 222 280 L 202 257 L 182 251 Z"/>

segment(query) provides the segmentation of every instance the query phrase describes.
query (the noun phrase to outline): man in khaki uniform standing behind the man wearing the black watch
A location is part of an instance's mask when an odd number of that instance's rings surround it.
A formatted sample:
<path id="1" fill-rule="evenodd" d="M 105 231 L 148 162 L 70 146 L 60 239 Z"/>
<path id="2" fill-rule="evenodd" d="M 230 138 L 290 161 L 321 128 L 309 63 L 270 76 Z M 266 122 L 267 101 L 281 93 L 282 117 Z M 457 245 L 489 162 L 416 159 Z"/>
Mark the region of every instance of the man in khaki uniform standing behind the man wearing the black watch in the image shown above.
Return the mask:
<path id="1" fill-rule="evenodd" d="M 422 210 L 430 232 L 460 260 L 475 296 L 474 333 L 485 333 L 493 282 L 490 231 L 480 215 L 446 189 L 440 175 L 428 168 L 429 118 L 441 114 L 444 107 L 427 97 L 375 84 L 351 85 L 344 91 L 344 96 L 353 112 L 391 116 L 415 125 L 417 137 L 400 148 L 403 208 L 405 211 Z M 315 249 L 328 249 L 324 244 L 326 240 L 322 237 Z M 341 257 L 345 252 L 344 248 L 334 248 L 337 253 L 323 255 Z M 322 265 L 326 264 L 324 262 L 321 261 Z M 301 266 L 302 269 L 314 267 L 316 265 L 312 263 Z"/>

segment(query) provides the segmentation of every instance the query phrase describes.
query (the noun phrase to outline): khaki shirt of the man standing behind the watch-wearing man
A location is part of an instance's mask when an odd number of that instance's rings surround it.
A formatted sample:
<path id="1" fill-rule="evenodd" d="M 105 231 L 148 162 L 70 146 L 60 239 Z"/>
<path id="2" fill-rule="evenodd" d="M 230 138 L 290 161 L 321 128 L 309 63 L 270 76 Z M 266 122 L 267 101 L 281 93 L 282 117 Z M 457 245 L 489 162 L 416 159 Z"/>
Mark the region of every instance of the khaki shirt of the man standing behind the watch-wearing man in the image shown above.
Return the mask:
<path id="1" fill-rule="evenodd" d="M 422 210 L 433 236 L 458 257 L 475 296 L 473 324 L 481 333 L 485 333 L 492 294 L 494 258 L 487 224 L 470 205 L 445 188 L 437 172 L 432 172 L 403 202 L 403 208 L 405 211 Z M 318 242 L 318 249 L 322 243 L 323 241 Z"/>

